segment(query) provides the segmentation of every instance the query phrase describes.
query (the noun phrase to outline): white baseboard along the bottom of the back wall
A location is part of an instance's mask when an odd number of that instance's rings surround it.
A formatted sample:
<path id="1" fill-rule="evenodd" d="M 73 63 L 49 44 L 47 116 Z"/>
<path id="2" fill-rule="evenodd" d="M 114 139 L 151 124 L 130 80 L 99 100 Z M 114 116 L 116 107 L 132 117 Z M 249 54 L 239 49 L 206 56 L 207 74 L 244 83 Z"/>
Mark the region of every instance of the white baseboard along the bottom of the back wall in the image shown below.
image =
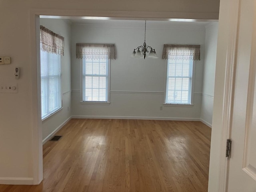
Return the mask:
<path id="1" fill-rule="evenodd" d="M 141 119 L 141 120 L 170 120 L 170 121 L 200 121 L 200 118 L 172 118 L 172 117 L 138 117 L 138 116 L 72 116 L 77 119 Z"/>

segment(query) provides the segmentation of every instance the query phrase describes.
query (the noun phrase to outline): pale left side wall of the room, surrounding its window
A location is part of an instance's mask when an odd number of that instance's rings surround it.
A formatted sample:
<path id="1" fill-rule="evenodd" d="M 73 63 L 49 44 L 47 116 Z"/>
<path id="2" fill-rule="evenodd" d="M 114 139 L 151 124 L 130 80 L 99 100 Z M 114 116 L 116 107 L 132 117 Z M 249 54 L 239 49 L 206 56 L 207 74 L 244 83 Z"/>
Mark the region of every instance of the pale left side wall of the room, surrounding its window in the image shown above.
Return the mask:
<path id="1" fill-rule="evenodd" d="M 42 122 L 42 138 L 45 142 L 52 133 L 71 117 L 71 27 L 68 20 L 43 19 L 40 25 L 64 37 L 62 56 L 62 109 Z"/>

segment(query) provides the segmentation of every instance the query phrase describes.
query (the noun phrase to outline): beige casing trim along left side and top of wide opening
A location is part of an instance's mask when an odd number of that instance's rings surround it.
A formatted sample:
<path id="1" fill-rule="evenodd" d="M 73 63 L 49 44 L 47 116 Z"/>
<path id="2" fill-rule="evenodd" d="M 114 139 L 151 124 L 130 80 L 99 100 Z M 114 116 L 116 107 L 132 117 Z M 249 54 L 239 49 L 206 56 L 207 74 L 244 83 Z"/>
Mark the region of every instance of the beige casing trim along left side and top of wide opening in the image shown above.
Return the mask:
<path id="1" fill-rule="evenodd" d="M 43 158 L 42 158 L 42 120 L 41 120 L 41 98 L 40 98 L 40 22 L 39 16 L 102 16 L 109 18 L 127 20 L 171 20 L 180 18 L 193 21 L 218 21 L 218 13 L 186 13 L 186 12 L 132 12 L 132 11 L 84 11 L 84 10 L 49 10 L 31 9 L 30 10 L 30 47 L 31 47 L 31 92 L 32 92 L 32 151 L 33 151 L 33 183 L 40 184 L 43 179 Z M 193 19 L 191 19 L 193 18 Z M 206 19 L 201 19 L 206 18 Z M 212 19 L 216 18 L 216 19 Z"/>

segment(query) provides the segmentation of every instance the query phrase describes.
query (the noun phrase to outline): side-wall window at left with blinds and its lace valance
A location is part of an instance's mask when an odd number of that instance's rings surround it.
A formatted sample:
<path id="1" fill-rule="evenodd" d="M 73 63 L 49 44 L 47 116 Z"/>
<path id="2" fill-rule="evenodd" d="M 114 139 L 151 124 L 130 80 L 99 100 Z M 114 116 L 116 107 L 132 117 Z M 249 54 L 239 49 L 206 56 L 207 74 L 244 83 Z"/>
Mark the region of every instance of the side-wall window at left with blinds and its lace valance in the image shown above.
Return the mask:
<path id="1" fill-rule="evenodd" d="M 64 37 L 40 26 L 40 69 L 42 120 L 62 108 Z"/>

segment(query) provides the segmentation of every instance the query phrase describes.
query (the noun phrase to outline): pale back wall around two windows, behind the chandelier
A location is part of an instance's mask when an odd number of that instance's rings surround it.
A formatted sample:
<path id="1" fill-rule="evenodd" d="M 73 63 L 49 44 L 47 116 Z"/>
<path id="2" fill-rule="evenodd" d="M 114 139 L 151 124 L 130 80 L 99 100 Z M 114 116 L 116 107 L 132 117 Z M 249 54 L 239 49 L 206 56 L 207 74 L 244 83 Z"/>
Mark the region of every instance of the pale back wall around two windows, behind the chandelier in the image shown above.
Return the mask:
<path id="1" fill-rule="evenodd" d="M 204 26 L 186 27 L 184 22 L 175 26 L 174 23 L 161 22 L 156 26 L 156 22 L 148 21 L 146 43 L 156 49 L 159 58 L 144 60 L 130 57 L 133 49 L 144 42 L 144 21 L 112 24 L 108 21 L 94 24 L 93 27 L 72 24 L 72 115 L 81 118 L 200 119 L 201 94 L 198 93 L 202 92 Z M 134 28 L 137 24 L 141 28 Z M 116 45 L 117 59 L 111 60 L 110 105 L 80 104 L 81 60 L 76 59 L 76 43 Z M 193 107 L 163 106 L 167 62 L 162 60 L 164 44 L 201 45 L 201 60 L 195 63 Z M 160 110 L 160 106 L 163 106 L 163 110 Z"/>

